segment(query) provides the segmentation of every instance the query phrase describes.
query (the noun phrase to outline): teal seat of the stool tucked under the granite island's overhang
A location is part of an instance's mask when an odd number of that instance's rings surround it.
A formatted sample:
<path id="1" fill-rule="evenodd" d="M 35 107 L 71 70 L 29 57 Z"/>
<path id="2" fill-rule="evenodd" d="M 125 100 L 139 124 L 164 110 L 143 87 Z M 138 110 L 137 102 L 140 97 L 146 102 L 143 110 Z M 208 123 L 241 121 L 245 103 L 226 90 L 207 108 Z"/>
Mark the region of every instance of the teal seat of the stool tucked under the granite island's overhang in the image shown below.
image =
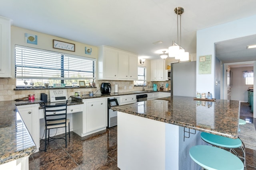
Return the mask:
<path id="1" fill-rule="evenodd" d="M 212 145 L 218 146 L 218 147 L 224 147 L 224 148 L 238 148 L 241 147 L 242 141 L 237 139 L 231 139 L 228 137 L 223 137 L 220 135 L 213 135 L 210 133 L 201 133 L 201 138 L 206 141 L 207 143 L 210 143 Z"/>

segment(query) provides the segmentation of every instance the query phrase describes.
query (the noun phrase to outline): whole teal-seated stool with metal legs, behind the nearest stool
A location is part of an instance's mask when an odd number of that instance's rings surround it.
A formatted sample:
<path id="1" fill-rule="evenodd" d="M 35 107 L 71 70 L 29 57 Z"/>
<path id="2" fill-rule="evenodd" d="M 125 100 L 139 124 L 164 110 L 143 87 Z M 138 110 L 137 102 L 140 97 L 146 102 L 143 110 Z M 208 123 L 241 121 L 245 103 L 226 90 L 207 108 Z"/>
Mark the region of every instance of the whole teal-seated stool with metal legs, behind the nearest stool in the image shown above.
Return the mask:
<path id="1" fill-rule="evenodd" d="M 213 146 L 229 149 L 230 152 L 233 152 L 235 156 L 244 160 L 244 167 L 246 169 L 245 148 L 244 148 L 244 144 L 239 138 L 231 139 L 231 138 L 223 137 L 220 135 L 214 135 L 214 134 L 202 132 L 201 139 L 203 139 L 204 141 L 206 141 L 207 143 Z M 240 148 L 242 150 L 243 152 L 242 156 L 240 156 L 236 152 L 236 150 L 234 150 L 236 148 Z"/>

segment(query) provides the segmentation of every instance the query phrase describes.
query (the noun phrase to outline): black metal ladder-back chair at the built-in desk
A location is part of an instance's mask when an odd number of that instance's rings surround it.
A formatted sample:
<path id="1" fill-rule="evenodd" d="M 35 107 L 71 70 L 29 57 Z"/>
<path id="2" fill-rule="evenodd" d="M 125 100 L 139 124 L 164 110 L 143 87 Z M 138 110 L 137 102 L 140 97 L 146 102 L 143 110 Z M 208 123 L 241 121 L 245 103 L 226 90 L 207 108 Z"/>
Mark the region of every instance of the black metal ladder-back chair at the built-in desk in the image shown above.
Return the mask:
<path id="1" fill-rule="evenodd" d="M 70 138 L 70 125 L 69 119 L 67 119 L 67 104 L 68 100 L 63 104 L 46 105 L 44 102 L 40 103 L 40 106 L 44 109 L 44 120 L 45 120 L 45 141 L 44 141 L 44 152 L 46 152 L 46 137 L 48 130 L 48 143 L 49 139 L 64 139 L 67 147 L 67 124 L 68 124 L 68 135 Z M 50 129 L 56 129 L 65 127 L 65 136 L 60 138 L 50 137 Z"/>

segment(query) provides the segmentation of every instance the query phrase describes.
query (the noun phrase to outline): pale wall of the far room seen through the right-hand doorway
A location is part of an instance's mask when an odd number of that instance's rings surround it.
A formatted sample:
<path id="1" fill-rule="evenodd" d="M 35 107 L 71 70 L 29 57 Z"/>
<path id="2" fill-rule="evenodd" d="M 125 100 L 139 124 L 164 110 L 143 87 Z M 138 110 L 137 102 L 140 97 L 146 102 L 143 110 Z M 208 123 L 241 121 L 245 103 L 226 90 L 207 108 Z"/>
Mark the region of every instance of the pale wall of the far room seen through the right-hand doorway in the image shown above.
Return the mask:
<path id="1" fill-rule="evenodd" d="M 245 85 L 245 78 L 243 77 L 243 71 L 253 70 L 253 67 L 239 67 L 230 68 L 233 72 L 233 85 L 231 87 L 231 100 L 240 100 L 241 102 L 248 102 L 248 88 L 253 85 Z"/>

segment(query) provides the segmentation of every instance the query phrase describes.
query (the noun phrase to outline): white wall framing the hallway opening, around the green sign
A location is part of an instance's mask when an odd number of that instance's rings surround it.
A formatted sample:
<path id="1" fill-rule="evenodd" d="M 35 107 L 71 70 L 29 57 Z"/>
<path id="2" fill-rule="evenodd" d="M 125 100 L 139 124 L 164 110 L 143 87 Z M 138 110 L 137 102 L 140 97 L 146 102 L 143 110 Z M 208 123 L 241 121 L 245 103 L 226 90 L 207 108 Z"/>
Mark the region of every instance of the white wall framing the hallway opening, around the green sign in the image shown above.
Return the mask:
<path id="1" fill-rule="evenodd" d="M 256 34 L 256 15 L 235 20 L 232 22 L 216 25 L 206 29 L 197 31 L 196 35 L 196 91 L 211 91 L 215 94 L 215 42 L 225 41 L 228 39 L 234 39 L 238 37 L 244 37 L 248 35 Z M 199 56 L 212 55 L 212 72 L 211 74 L 198 74 L 199 68 Z M 256 61 L 254 67 L 256 66 Z M 256 75 L 254 75 L 255 80 Z M 222 82 L 224 83 L 224 82 Z M 256 87 L 254 81 L 254 88 Z M 225 92 L 225 90 L 223 90 Z M 223 95 L 225 96 L 225 95 Z M 223 98 L 221 96 L 221 98 Z M 215 96 L 212 96 L 215 98 Z M 225 98 L 224 98 L 225 99 Z M 254 95 L 254 106 L 256 105 L 256 95 Z M 254 117 L 256 118 L 256 107 L 254 107 Z"/>

